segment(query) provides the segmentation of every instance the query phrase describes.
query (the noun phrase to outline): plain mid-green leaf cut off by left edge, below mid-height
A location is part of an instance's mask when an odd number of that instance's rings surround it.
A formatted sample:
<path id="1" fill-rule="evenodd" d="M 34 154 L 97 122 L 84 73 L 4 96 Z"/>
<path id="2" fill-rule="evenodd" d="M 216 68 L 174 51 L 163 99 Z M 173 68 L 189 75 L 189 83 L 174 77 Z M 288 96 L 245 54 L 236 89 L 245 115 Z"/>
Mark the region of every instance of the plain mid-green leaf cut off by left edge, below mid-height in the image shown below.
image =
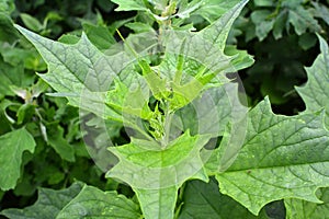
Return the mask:
<path id="1" fill-rule="evenodd" d="M 0 188 L 14 188 L 21 175 L 24 151 L 34 152 L 35 141 L 25 129 L 16 129 L 0 136 Z"/>

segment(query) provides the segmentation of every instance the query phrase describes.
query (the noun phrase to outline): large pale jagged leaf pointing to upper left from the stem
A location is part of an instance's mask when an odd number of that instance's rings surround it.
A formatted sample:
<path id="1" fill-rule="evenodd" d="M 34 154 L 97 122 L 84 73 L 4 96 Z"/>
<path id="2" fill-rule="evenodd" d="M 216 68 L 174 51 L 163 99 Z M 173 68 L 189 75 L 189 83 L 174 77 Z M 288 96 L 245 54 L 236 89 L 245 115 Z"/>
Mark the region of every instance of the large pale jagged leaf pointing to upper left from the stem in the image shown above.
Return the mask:
<path id="1" fill-rule="evenodd" d="M 105 56 L 83 34 L 75 45 L 67 45 L 42 37 L 16 25 L 33 43 L 48 65 L 48 73 L 39 74 L 69 104 L 114 119 L 121 117 L 106 107 L 105 94 L 116 74 L 126 67 L 128 56 L 120 53 Z"/>

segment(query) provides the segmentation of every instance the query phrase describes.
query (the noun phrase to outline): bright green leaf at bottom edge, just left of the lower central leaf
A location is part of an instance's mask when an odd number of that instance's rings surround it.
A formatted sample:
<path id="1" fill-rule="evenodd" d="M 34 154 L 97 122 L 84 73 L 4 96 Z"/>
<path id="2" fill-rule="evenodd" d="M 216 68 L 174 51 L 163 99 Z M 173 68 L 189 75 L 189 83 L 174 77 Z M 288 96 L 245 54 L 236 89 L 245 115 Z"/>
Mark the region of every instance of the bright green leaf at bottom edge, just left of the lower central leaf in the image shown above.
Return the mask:
<path id="1" fill-rule="evenodd" d="M 103 192 L 84 185 L 81 192 L 68 203 L 56 219 L 79 218 L 141 218 L 139 206 L 116 192 Z"/>

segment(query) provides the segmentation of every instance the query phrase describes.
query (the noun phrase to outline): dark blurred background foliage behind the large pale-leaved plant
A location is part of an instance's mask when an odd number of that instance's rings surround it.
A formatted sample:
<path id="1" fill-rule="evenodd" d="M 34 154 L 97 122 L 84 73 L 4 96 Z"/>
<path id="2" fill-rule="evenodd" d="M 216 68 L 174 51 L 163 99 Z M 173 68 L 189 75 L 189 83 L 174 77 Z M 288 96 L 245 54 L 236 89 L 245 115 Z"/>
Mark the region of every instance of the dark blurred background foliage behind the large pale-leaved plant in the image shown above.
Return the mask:
<path id="1" fill-rule="evenodd" d="M 158 27 L 150 13 L 138 8 L 117 11 L 113 2 L 0 1 L 0 135 L 25 127 L 36 141 L 34 154 L 23 154 L 16 187 L 5 193 L 0 191 L 0 210 L 32 204 L 37 187 L 64 188 L 75 180 L 133 196 L 128 186 L 104 178 L 90 159 L 80 132 L 78 110 L 68 106 L 64 99 L 46 95 L 52 89 L 35 74 L 46 72 L 46 64 L 13 27 L 18 23 L 69 44 L 76 43 L 83 31 L 102 50 L 120 41 L 116 30 L 127 36 Z M 185 2 L 184 10 L 177 12 L 181 19 L 173 20 L 173 28 L 201 30 L 238 0 L 230 3 L 205 0 L 205 7 L 194 11 L 193 5 L 198 1 Z M 254 57 L 253 66 L 239 71 L 249 106 L 268 95 L 275 113 L 294 115 L 305 110 L 294 87 L 306 82 L 304 67 L 310 66 L 319 54 L 316 33 L 328 41 L 328 0 L 250 0 L 227 42 Z M 111 137 L 125 141 L 120 126 Z M 281 204 L 268 208 L 274 208 L 272 218 L 284 218 L 282 211 L 275 210 L 283 208 Z"/>

